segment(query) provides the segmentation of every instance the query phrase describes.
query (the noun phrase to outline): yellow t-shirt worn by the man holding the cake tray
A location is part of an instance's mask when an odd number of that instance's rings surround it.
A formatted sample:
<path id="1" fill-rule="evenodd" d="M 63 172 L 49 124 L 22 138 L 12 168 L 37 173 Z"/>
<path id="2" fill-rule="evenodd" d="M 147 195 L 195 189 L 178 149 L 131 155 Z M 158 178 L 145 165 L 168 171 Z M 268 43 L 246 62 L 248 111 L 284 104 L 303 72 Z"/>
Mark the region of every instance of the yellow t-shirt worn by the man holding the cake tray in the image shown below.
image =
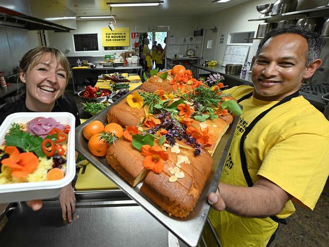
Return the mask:
<path id="1" fill-rule="evenodd" d="M 225 93 L 239 99 L 252 91 L 250 86 L 239 86 Z M 240 102 L 242 115 L 221 182 L 248 186 L 241 169 L 240 138 L 261 112 L 277 102 L 254 97 Z M 270 110 L 246 137 L 244 152 L 253 183 L 263 176 L 292 195 L 278 218 L 295 212 L 292 201 L 314 209 L 329 173 L 329 122 L 307 100 L 299 96 Z M 266 246 L 277 228 L 270 218 L 242 218 L 227 211 L 212 210 L 209 217 L 223 247 Z"/>

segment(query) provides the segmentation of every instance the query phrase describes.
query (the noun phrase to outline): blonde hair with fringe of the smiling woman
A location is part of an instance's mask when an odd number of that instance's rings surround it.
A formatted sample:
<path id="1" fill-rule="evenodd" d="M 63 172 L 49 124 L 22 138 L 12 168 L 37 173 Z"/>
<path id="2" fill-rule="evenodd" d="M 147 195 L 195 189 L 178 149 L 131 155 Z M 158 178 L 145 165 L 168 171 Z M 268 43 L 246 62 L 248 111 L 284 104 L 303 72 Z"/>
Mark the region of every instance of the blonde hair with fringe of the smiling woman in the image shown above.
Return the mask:
<path id="1" fill-rule="evenodd" d="M 65 72 L 66 72 L 65 87 L 66 87 L 68 84 L 68 81 L 71 77 L 70 63 L 68 62 L 65 55 L 55 47 L 41 46 L 41 47 L 36 47 L 32 50 L 29 50 L 27 53 L 24 54 L 24 56 L 22 57 L 22 60 L 19 64 L 20 72 L 23 72 L 24 74 L 26 74 L 26 72 L 30 68 L 33 68 L 36 64 L 38 64 L 42 60 L 43 56 L 47 53 L 52 56 L 52 59 L 56 58 L 57 64 L 62 65 L 63 69 L 65 70 Z M 17 78 L 17 83 L 19 84 L 18 88 L 20 89 L 22 87 L 23 83 L 19 76 Z"/>

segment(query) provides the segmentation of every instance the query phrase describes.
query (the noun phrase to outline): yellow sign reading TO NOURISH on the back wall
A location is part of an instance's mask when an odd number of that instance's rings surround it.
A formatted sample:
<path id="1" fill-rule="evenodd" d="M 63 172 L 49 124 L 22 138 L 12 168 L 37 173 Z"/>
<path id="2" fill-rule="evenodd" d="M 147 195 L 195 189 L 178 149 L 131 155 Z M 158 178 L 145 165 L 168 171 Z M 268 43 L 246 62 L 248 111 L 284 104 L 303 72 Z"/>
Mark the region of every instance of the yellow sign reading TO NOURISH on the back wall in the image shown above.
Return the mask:
<path id="1" fill-rule="evenodd" d="M 108 27 L 102 28 L 103 47 L 130 46 L 129 27 L 118 27 L 111 31 Z"/>

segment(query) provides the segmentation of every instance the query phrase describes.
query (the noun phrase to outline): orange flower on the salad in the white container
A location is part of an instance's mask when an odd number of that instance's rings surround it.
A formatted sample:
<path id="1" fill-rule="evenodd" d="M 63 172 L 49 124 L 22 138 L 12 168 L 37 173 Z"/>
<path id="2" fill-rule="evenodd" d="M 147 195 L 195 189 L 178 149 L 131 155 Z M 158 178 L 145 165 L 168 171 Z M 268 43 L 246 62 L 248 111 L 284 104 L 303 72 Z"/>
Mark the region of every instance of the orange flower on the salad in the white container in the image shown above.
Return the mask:
<path id="1" fill-rule="evenodd" d="M 9 154 L 9 157 L 3 159 L 1 163 L 5 167 L 12 168 L 12 175 L 15 178 L 26 178 L 39 165 L 38 157 L 32 152 L 19 153 L 17 147 L 14 146 L 6 147 L 5 152 Z"/>

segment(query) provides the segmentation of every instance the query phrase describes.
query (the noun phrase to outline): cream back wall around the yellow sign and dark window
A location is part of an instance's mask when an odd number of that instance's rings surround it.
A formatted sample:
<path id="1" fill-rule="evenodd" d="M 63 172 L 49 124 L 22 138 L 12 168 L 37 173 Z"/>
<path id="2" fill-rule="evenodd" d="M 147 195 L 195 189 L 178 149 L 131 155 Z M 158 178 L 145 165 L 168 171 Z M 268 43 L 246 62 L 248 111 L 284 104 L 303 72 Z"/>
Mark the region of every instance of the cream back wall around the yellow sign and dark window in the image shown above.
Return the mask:
<path id="1" fill-rule="evenodd" d="M 76 30 L 70 32 L 48 31 L 49 43 L 57 47 L 68 57 L 104 56 L 113 54 L 114 51 L 104 51 L 102 47 L 103 27 L 108 26 L 109 20 L 79 20 L 76 22 Z M 196 18 L 162 18 L 162 19 L 136 19 L 116 20 L 115 27 L 129 27 L 130 32 L 148 32 L 148 27 L 158 27 L 157 31 L 168 31 L 168 36 L 193 36 Z M 74 52 L 73 34 L 98 33 L 98 52 Z M 129 51 L 132 51 L 132 39 Z M 69 49 L 70 51 L 68 51 Z"/>

